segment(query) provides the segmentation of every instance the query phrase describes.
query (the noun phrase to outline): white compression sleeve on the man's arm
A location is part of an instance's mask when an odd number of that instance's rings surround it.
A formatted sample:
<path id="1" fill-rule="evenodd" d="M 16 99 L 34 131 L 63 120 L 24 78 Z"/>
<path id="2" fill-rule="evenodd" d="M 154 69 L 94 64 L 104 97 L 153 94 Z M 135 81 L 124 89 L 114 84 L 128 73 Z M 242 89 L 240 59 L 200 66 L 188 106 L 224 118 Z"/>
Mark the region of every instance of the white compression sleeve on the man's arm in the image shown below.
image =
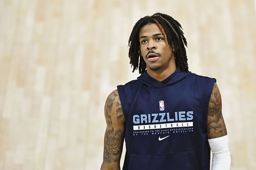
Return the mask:
<path id="1" fill-rule="evenodd" d="M 227 135 L 208 139 L 208 142 L 213 154 L 211 170 L 229 170 L 231 159 Z"/>

